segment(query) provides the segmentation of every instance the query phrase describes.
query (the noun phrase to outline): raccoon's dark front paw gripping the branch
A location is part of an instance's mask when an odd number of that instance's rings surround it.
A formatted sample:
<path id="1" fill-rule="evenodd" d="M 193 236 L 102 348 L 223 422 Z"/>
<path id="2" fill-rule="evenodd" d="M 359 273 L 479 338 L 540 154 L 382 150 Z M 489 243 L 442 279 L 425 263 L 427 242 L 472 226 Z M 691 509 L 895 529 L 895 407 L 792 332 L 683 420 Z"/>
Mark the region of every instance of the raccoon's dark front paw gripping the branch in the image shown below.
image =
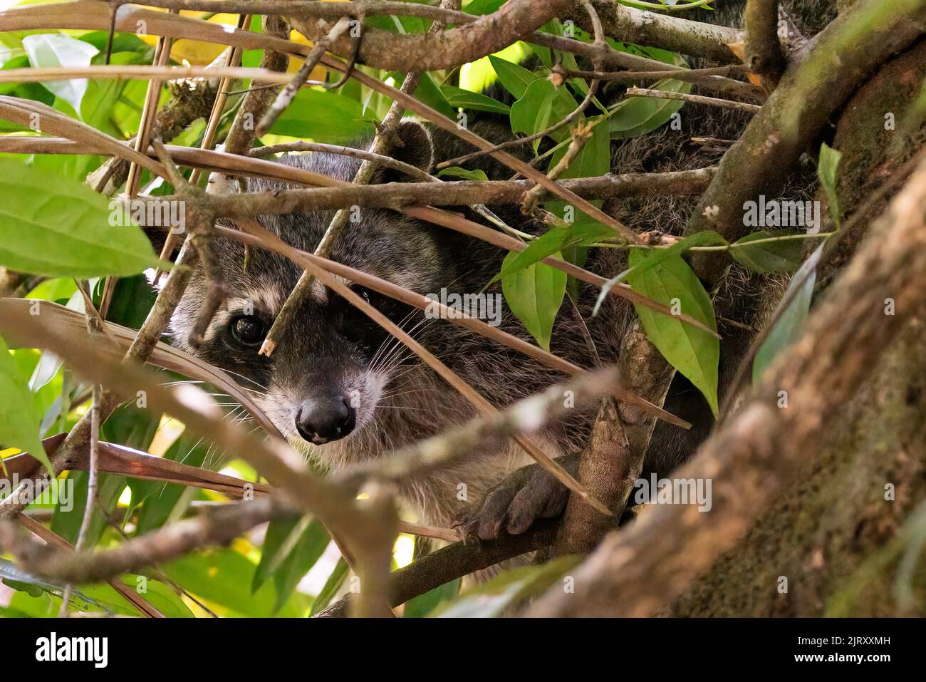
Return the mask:
<path id="1" fill-rule="evenodd" d="M 557 462 L 574 475 L 579 457 L 566 455 Z M 451 524 L 466 539 L 494 540 L 504 533 L 520 535 L 537 519 L 561 514 L 568 499 L 566 486 L 539 464 L 530 464 L 489 488 L 482 500 L 459 512 Z"/>

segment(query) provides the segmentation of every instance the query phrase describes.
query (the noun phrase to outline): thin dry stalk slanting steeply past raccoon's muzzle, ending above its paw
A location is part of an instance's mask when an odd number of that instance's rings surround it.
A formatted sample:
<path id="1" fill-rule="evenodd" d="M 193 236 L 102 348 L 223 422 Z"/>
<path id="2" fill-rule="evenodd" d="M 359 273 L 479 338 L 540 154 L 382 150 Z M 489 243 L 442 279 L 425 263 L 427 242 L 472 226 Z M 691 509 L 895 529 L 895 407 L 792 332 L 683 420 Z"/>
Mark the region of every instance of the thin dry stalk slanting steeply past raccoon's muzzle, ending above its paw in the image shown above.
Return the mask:
<path id="1" fill-rule="evenodd" d="M 272 242 L 272 237 L 274 235 L 270 234 L 267 230 L 264 230 L 256 221 L 240 221 L 239 224 L 248 232 L 253 234 L 260 234 L 261 237 Z M 469 400 L 469 402 L 477 410 L 482 411 L 483 413 L 494 414 L 497 412 L 497 409 L 492 403 L 482 397 L 475 388 L 461 379 L 457 373 L 447 367 L 444 362 L 438 360 L 430 350 L 421 346 L 417 340 L 412 338 L 407 334 L 401 327 L 395 324 L 392 320 L 382 314 L 380 310 L 375 309 L 371 306 L 363 297 L 360 297 L 357 292 L 351 289 L 349 286 L 341 282 L 336 277 L 333 277 L 328 272 L 325 272 L 319 266 L 310 262 L 309 260 L 303 260 L 300 265 L 306 267 L 306 272 L 311 272 L 312 276 L 319 279 L 322 284 L 332 289 L 335 294 L 338 294 L 340 297 L 346 299 L 350 304 L 355 308 L 363 312 L 367 317 L 369 317 L 373 322 L 379 324 L 383 329 L 405 344 L 412 352 L 414 352 L 421 360 L 423 360 L 432 370 L 437 373 L 445 382 L 453 386 L 461 396 Z M 515 436 L 515 441 L 523 448 L 534 461 L 539 463 L 544 469 L 546 469 L 550 474 L 552 474 L 557 480 L 562 483 L 564 486 L 568 487 L 569 490 L 574 490 L 578 495 L 582 496 L 582 499 L 588 501 L 589 504 L 594 506 L 595 509 L 602 511 L 603 513 L 610 513 L 607 511 L 607 507 L 601 504 L 598 500 L 591 498 L 585 489 L 579 485 L 579 483 L 571 476 L 569 473 L 560 466 L 557 461 L 554 461 L 549 455 L 547 455 L 543 449 L 537 446 L 532 439 L 526 436 Z"/>

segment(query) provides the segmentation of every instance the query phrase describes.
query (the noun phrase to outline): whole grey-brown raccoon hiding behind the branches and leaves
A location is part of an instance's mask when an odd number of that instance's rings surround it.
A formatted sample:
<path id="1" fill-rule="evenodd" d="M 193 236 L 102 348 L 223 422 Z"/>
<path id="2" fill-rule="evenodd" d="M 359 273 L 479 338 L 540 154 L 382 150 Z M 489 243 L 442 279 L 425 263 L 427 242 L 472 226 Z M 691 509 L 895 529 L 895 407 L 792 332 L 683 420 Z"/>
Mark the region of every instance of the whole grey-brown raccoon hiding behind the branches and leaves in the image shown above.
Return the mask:
<path id="1" fill-rule="evenodd" d="M 818 9 L 833 5 L 832 0 L 794 4 Z M 717 15 L 705 12 L 699 19 L 722 19 L 737 25 L 744 5 L 740 0 L 720 2 Z M 819 18 L 820 12 L 808 16 Z M 473 115 L 469 120 L 473 132 L 495 142 L 510 135 L 507 123 L 491 117 Z M 686 106 L 682 120 L 686 121 L 682 133 L 657 131 L 614 145 L 612 170 L 682 170 L 708 165 L 717 160 L 718 153 L 690 145 L 680 147 L 680 136 L 735 139 L 747 118 L 735 112 Z M 401 142 L 397 158 L 422 170 L 431 170 L 435 160 L 471 151 L 455 136 L 428 130 L 412 120 L 401 123 L 397 137 Z M 365 145 L 369 141 L 355 146 Z M 352 180 L 359 167 L 355 158 L 321 153 L 278 160 L 345 181 Z M 475 166 L 486 170 L 491 178 L 505 178 L 510 172 L 489 158 L 482 158 Z M 377 181 L 401 179 L 394 171 L 382 170 Z M 284 186 L 253 179 L 246 183 L 249 192 Z M 490 208 L 519 230 L 541 232 L 540 225 L 521 216 L 516 208 Z M 680 234 L 694 200 L 620 201 L 605 208 L 636 229 Z M 319 211 L 262 216 L 259 222 L 285 242 L 311 252 L 332 217 L 332 211 Z M 480 220 L 475 215 L 469 217 Z M 354 218 L 336 241 L 333 260 L 425 295 L 440 297 L 443 291 L 493 297 L 498 305 L 493 323 L 509 334 L 531 340 L 523 324 L 507 309 L 500 285 L 486 288 L 501 268 L 504 251 L 386 209 L 361 208 Z M 217 238 L 214 248 L 230 296 L 210 323 L 203 342 L 192 347 L 188 338 L 207 286 L 205 274 L 195 272 L 171 321 L 173 342 L 241 377 L 281 433 L 307 458 L 337 470 L 437 435 L 475 416 L 469 401 L 407 348 L 318 282 L 272 356 L 258 355 L 270 324 L 302 271 L 289 259 L 260 249 L 251 250 L 245 267 L 244 247 L 232 240 Z M 601 250 L 607 253 L 592 252 L 585 267 L 605 276 L 619 272 L 624 263 L 616 250 Z M 431 319 L 418 309 L 357 284 L 345 284 L 498 408 L 563 378 L 535 360 L 450 322 Z M 608 297 L 599 314 L 592 316 L 598 293 L 594 287 L 580 285 L 575 298 L 567 298 L 557 313 L 552 335 L 551 351 L 584 368 L 614 362 L 620 338 L 632 320 L 632 309 L 615 297 Z M 713 421 L 707 402 L 681 376 L 673 382 L 666 407 L 697 428 L 684 434 L 677 427 L 660 424 L 644 474 L 667 473 L 684 460 Z M 542 447 L 574 471 L 593 420 L 594 410 L 577 410 L 563 421 L 547 425 L 540 437 Z M 515 480 L 516 485 L 501 485 L 508 474 L 530 463 L 526 453 L 511 443 L 498 450 L 474 452 L 463 463 L 440 472 L 410 477 L 400 492 L 425 523 L 448 525 L 463 519 L 484 539 L 504 532 L 520 533 L 536 518 L 557 515 L 567 499 L 565 487 L 535 465 L 508 479 Z M 518 496 L 525 486 L 530 494 Z M 491 504 L 481 505 L 487 495 Z"/>

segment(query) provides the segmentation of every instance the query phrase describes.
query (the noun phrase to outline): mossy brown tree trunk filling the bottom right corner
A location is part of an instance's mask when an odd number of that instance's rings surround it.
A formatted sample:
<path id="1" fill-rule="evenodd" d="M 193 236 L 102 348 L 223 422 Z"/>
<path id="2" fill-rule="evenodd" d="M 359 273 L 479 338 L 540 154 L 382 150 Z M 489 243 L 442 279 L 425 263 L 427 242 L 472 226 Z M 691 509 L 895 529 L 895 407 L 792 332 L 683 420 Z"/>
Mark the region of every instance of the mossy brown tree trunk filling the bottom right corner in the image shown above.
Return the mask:
<path id="1" fill-rule="evenodd" d="M 872 379 L 834 415 L 839 436 L 807 449 L 787 489 L 733 549 L 667 612 L 682 616 L 926 615 L 893 590 L 899 553 L 884 556 L 926 498 L 926 335 L 899 335 Z M 886 484 L 896 499 L 884 499 Z M 883 563 L 881 563 L 883 562 Z M 879 563 L 877 571 L 868 570 Z M 787 592 L 780 592 L 780 577 Z"/>

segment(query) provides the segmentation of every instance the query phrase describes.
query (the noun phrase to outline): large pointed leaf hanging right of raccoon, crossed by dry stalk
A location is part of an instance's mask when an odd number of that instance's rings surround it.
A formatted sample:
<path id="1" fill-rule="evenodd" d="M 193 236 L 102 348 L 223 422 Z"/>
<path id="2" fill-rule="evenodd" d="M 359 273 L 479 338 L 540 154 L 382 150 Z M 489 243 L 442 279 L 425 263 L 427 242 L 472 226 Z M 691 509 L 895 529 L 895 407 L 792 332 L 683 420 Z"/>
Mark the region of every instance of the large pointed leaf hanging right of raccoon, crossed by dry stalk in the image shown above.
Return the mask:
<path id="1" fill-rule="evenodd" d="M 633 249 L 632 267 L 640 265 L 645 255 Z M 714 308 L 704 286 L 688 264 L 678 254 L 661 259 L 656 264 L 627 277 L 633 291 L 691 315 L 709 329 L 716 330 Z M 676 370 L 686 376 L 717 414 L 717 380 L 720 361 L 720 339 L 691 324 L 685 324 L 656 310 L 635 305 L 637 316 L 647 338 Z"/>

